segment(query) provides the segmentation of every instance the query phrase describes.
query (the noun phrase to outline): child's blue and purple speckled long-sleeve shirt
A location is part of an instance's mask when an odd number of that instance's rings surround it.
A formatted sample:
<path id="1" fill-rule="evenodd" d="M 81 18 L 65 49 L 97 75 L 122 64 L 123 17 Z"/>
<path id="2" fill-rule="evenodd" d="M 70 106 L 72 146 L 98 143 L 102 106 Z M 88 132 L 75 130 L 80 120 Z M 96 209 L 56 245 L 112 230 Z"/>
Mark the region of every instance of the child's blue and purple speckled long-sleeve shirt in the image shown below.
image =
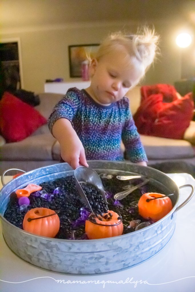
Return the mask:
<path id="1" fill-rule="evenodd" d="M 128 159 L 147 161 L 126 97 L 104 106 L 96 103 L 84 89 L 70 88 L 49 117 L 51 132 L 60 118 L 72 123 L 87 160 L 123 160 L 122 139 Z"/>

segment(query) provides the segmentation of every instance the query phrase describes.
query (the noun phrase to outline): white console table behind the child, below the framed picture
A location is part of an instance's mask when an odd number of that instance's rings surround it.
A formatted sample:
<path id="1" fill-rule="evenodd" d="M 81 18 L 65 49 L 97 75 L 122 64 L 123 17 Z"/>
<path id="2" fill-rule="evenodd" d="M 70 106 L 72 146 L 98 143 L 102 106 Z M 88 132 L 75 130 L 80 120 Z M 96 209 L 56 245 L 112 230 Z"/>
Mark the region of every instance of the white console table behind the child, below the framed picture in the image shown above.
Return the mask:
<path id="1" fill-rule="evenodd" d="M 61 93 L 65 94 L 71 87 L 84 89 L 89 87 L 90 81 L 77 81 L 77 82 L 46 82 L 44 84 L 44 91 L 47 93 Z"/>

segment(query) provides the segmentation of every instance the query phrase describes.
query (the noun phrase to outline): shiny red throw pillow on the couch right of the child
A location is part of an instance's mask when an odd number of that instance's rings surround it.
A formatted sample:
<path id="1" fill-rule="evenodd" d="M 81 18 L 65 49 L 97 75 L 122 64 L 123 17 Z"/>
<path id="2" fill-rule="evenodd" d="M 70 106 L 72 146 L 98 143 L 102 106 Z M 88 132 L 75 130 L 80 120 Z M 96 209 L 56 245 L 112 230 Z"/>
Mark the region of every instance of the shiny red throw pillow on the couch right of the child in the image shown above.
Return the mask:
<path id="1" fill-rule="evenodd" d="M 180 97 L 172 92 L 172 102 L 163 102 L 164 93 L 145 94 L 142 97 L 134 115 L 138 132 L 142 135 L 182 139 L 194 115 L 192 93 Z"/>

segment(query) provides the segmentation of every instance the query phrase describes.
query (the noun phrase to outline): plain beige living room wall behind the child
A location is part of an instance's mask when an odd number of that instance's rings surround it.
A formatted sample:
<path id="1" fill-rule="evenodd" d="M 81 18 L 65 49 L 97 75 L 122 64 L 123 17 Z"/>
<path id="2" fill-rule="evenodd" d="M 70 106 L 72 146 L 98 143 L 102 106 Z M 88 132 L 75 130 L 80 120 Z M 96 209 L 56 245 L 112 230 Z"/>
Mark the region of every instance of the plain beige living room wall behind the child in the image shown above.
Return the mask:
<path id="1" fill-rule="evenodd" d="M 108 33 L 118 30 L 135 33 L 139 22 L 75 24 L 46 27 L 23 27 L 4 31 L 2 37 L 19 37 L 23 65 L 23 88 L 40 93 L 46 79 L 61 77 L 64 81 L 76 81 L 69 77 L 68 46 L 99 43 Z M 180 51 L 174 37 L 177 23 L 157 23 L 154 27 L 161 36 L 161 56 L 146 73 L 142 84 L 174 84 L 181 78 Z"/>

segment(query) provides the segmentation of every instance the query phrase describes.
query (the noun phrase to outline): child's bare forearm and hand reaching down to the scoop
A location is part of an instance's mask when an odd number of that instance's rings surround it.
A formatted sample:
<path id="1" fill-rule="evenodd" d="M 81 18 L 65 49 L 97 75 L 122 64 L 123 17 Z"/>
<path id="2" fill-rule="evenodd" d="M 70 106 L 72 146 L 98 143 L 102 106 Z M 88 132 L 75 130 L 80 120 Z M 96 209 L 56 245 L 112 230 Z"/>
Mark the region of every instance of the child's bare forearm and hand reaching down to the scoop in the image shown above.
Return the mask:
<path id="1" fill-rule="evenodd" d="M 60 154 L 64 161 L 73 169 L 79 167 L 79 164 L 88 167 L 84 147 L 68 119 L 58 119 L 54 123 L 52 134 L 60 143 Z"/>

